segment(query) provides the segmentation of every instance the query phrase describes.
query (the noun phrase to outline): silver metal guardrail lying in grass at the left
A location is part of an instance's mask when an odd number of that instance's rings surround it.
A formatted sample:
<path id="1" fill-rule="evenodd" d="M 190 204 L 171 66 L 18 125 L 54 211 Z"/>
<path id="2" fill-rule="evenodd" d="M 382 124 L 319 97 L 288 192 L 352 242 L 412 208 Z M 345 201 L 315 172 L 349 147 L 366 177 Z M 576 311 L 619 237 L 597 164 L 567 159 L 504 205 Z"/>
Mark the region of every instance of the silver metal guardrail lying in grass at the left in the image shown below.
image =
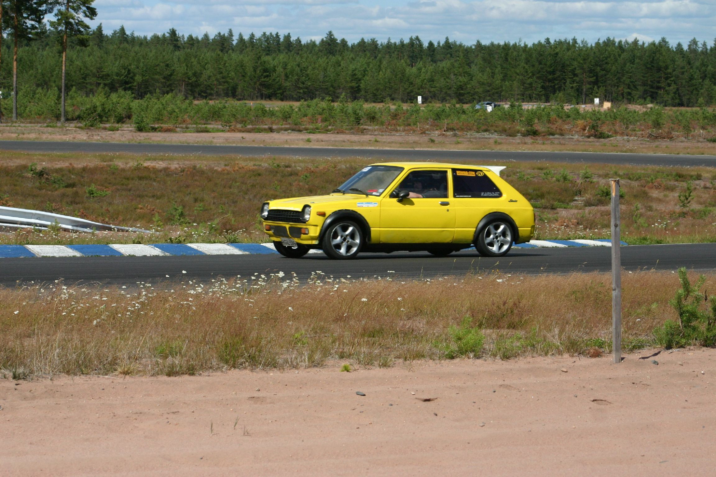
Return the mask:
<path id="1" fill-rule="evenodd" d="M 34 227 L 47 229 L 50 226 L 57 226 L 62 230 L 72 232 L 95 232 L 100 230 L 115 230 L 117 232 L 142 232 L 150 233 L 150 230 L 137 229 L 135 227 L 120 227 L 118 225 L 101 224 L 84 220 L 69 215 L 53 214 L 41 210 L 17 209 L 15 207 L 0 206 L 0 227 L 23 228 Z"/>

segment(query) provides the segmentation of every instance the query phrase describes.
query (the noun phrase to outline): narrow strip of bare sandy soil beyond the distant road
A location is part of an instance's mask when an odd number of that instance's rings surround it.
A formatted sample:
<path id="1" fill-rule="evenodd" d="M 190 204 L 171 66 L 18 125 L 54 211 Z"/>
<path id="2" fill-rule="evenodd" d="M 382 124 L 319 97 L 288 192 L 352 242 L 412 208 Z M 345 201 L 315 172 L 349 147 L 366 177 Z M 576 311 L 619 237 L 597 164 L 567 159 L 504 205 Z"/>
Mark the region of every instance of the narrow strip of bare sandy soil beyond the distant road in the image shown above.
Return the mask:
<path id="1" fill-rule="evenodd" d="M 190 129 L 188 131 L 191 131 Z M 505 137 L 497 134 L 416 130 L 368 132 L 136 132 L 132 127 L 119 131 L 44 127 L 41 124 L 1 124 L 0 140 L 147 142 L 167 144 L 241 144 L 253 146 L 358 147 L 399 149 L 526 150 L 576 152 L 643 152 L 659 154 L 716 154 L 716 143 L 700 134 L 692 139 L 641 139 L 613 137 Z M 309 142 L 308 142 L 309 141 Z"/>

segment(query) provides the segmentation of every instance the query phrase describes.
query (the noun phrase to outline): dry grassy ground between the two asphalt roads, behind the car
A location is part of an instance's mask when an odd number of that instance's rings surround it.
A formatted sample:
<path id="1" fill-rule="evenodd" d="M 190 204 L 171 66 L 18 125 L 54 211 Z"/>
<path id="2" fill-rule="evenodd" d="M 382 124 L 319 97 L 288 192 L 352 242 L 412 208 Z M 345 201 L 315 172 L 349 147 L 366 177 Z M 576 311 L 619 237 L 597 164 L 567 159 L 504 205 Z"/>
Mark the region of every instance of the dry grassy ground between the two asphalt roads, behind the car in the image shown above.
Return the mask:
<path id="1" fill-rule="evenodd" d="M 23 230 L 0 234 L 0 243 L 263 241 L 257 215 L 261 202 L 325 193 L 367 163 L 359 157 L 11 152 L 0 162 L 0 205 L 156 232 L 78 235 Z M 34 172 L 31 164 L 37 164 Z M 620 177 L 624 240 L 631 244 L 716 241 L 716 173 L 707 167 L 515 162 L 503 175 L 535 205 L 538 239 L 609 238 L 609 198 L 604 192 L 610 177 Z M 689 182 L 692 197 L 684 204 L 679 195 Z M 87 188 L 92 185 L 107 195 L 90 197 Z"/>

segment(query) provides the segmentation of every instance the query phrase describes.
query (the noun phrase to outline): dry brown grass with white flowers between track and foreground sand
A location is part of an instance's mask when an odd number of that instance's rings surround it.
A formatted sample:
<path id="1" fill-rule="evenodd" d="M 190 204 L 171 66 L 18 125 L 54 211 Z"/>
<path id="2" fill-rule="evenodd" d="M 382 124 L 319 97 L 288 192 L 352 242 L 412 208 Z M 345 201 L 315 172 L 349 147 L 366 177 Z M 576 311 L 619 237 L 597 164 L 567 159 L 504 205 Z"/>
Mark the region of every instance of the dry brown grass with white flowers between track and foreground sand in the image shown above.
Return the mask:
<path id="1" fill-rule="evenodd" d="M 189 281 L 173 290 L 62 282 L 0 289 L 1 373 L 177 375 L 327 360 L 366 367 L 459 355 L 597 355 L 610 348 L 609 275 L 402 282 L 315 272 L 300 286 L 281 275 Z M 714 288 L 716 277 L 707 278 L 707 289 Z M 652 330 L 675 318 L 667 300 L 678 286 L 671 273 L 624 274 L 624 348 L 653 344 Z M 460 348 L 465 335 L 484 340 Z"/>

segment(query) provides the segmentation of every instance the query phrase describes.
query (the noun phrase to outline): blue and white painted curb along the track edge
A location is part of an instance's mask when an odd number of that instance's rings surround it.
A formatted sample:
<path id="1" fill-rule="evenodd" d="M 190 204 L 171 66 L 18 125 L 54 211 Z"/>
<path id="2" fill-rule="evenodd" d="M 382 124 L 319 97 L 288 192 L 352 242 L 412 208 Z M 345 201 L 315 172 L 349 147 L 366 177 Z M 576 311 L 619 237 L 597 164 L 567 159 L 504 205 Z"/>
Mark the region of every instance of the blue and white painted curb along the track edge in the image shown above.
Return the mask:
<path id="1" fill-rule="evenodd" d="M 627 242 L 621 242 L 627 245 Z M 518 248 L 611 247 L 602 240 L 532 240 Z M 273 243 L 155 243 L 112 245 L 0 245 L 0 258 L 19 257 L 162 257 L 168 255 L 256 255 L 278 253 Z M 309 253 L 323 253 L 311 250 Z"/>

